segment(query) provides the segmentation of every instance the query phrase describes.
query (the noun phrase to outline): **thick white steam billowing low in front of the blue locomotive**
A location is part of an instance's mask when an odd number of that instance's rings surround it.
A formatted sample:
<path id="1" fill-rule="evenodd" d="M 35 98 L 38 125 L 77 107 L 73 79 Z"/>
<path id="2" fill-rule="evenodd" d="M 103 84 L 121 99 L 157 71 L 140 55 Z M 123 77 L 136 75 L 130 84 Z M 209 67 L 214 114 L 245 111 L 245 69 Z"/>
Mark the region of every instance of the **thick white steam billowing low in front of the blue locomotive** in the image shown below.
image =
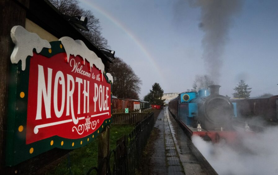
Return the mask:
<path id="1" fill-rule="evenodd" d="M 278 127 L 245 136 L 239 147 L 212 144 L 199 136 L 192 142 L 218 174 L 278 174 Z"/>

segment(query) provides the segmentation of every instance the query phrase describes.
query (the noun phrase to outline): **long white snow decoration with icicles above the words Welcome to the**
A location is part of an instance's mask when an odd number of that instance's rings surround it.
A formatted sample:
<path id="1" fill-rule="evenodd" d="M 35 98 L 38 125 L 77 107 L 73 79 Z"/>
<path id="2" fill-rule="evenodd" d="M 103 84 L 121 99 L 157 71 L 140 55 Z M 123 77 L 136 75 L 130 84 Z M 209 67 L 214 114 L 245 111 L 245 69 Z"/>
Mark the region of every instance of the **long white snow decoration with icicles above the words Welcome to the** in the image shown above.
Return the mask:
<path id="1" fill-rule="evenodd" d="M 101 58 L 97 57 L 95 52 L 88 49 L 88 47 L 83 43 L 81 40 L 74 40 L 70 37 L 62 37 L 59 39 L 61 43 L 63 44 L 65 51 L 67 53 L 67 60 L 69 62 L 69 55 L 80 55 L 85 64 L 85 59 L 90 63 L 91 68 L 93 67 L 93 64 L 101 70 L 101 73 L 104 72 L 104 64 L 101 61 Z"/>

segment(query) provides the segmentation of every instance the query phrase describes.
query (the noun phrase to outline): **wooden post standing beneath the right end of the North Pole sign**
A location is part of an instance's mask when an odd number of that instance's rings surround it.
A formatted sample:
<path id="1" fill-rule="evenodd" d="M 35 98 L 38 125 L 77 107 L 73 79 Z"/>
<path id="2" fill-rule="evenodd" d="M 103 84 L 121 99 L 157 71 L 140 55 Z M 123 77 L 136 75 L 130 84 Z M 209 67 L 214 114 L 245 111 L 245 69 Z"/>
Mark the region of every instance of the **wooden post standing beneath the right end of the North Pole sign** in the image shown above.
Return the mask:
<path id="1" fill-rule="evenodd" d="M 97 164 L 100 165 L 103 161 L 103 158 L 109 155 L 110 151 L 110 143 L 109 143 L 109 129 L 110 125 L 105 126 L 103 131 L 101 132 L 100 136 L 98 136 L 98 156 L 97 156 Z M 109 160 L 107 160 L 108 163 Z M 107 164 L 103 164 L 103 167 L 100 167 L 101 173 L 99 174 L 106 174 Z"/>

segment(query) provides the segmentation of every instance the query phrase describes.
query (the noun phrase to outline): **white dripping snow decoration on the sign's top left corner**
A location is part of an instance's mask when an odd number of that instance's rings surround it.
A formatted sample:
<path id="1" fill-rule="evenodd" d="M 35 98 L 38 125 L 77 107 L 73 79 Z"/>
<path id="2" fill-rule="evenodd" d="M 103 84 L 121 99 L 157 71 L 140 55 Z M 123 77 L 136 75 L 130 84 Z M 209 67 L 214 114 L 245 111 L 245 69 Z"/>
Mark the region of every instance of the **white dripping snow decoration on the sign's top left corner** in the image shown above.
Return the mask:
<path id="1" fill-rule="evenodd" d="M 37 53 L 41 52 L 43 47 L 51 48 L 47 40 L 40 38 L 35 33 L 30 33 L 20 25 L 11 28 L 11 39 L 15 43 L 15 48 L 11 54 L 11 62 L 17 64 L 21 60 L 21 69 L 25 70 L 27 56 L 33 56 L 33 49 Z"/>

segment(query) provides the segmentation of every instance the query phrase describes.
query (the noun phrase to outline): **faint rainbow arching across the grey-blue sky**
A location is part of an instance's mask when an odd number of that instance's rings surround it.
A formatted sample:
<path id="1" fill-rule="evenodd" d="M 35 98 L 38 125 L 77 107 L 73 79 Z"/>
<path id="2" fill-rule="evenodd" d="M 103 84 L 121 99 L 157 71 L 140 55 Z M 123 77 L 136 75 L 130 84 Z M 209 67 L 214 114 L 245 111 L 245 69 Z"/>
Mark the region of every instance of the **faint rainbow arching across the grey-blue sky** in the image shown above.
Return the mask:
<path id="1" fill-rule="evenodd" d="M 128 30 L 127 27 L 125 27 L 125 25 L 123 25 L 118 19 L 116 19 L 114 16 L 110 15 L 110 13 L 108 11 L 106 11 L 105 9 L 103 9 L 102 7 L 99 7 L 98 5 L 94 4 L 92 1 L 90 0 L 81 0 L 82 3 L 86 4 L 86 6 L 89 6 L 91 8 L 93 8 L 94 10 L 98 11 L 99 13 L 101 13 L 103 16 L 105 16 L 107 19 L 109 19 L 114 25 L 116 25 L 119 29 L 123 30 L 129 38 L 131 38 L 131 40 L 133 40 L 136 45 L 140 48 L 140 50 L 147 56 L 147 58 L 149 59 L 150 63 L 152 65 L 154 65 L 158 75 L 161 77 L 161 79 L 163 80 L 163 72 L 159 69 L 159 66 L 157 65 L 155 59 L 153 56 L 151 56 L 151 54 L 148 52 L 147 48 L 144 47 L 144 44 L 140 41 L 139 38 L 137 38 L 130 30 Z"/>

